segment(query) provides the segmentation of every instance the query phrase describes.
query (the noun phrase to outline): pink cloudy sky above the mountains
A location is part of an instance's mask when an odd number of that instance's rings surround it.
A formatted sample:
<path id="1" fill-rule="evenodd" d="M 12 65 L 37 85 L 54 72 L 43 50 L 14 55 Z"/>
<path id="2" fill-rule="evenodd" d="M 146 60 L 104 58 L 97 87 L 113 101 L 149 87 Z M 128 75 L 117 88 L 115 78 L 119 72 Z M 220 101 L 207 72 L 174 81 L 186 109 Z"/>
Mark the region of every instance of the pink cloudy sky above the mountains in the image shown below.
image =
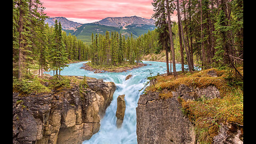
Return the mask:
<path id="1" fill-rule="evenodd" d="M 151 19 L 153 0 L 41 0 L 49 17 L 65 17 L 79 23 L 90 23 L 107 17 Z M 177 19 L 176 14 L 173 19 Z"/>

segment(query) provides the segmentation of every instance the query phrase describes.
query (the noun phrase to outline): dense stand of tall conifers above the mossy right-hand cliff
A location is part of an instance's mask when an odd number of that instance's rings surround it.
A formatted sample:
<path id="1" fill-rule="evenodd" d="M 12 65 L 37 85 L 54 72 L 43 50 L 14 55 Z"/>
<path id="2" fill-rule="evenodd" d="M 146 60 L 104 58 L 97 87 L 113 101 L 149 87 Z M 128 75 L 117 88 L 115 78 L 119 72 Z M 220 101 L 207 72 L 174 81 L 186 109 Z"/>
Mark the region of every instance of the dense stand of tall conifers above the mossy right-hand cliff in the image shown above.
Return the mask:
<path id="1" fill-rule="evenodd" d="M 175 37 L 172 38 L 171 35 L 173 26 L 170 25 L 169 13 L 174 10 L 178 12 L 180 52 L 176 53 L 178 47 L 174 47 L 176 50 L 172 59 L 180 54 L 181 64 L 186 61 L 190 72 L 193 71 L 195 62 L 203 69 L 230 67 L 243 79 L 236 69 L 243 65 L 242 0 L 154 0 L 153 6 L 153 17 L 162 34 L 159 40 L 163 45 L 167 43 L 165 47 L 168 49 L 177 45 L 177 41 L 172 42 Z M 168 33 L 165 32 L 168 30 L 169 43 Z"/>

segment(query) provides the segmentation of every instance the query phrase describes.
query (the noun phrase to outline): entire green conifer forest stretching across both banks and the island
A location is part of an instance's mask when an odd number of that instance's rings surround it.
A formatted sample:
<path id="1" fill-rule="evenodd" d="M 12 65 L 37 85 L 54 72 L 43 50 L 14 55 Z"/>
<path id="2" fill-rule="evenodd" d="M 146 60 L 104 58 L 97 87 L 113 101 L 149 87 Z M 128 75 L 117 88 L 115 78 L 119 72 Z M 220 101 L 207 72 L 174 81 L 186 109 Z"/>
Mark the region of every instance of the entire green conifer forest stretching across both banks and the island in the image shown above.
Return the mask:
<path id="1" fill-rule="evenodd" d="M 42 2 L 13 0 L 13 78 L 21 80 L 35 65 L 38 76 L 49 68 L 60 75 L 70 61 L 119 66 L 165 50 L 166 63 L 171 53 L 174 76 L 175 62 L 181 62 L 182 71 L 185 64 L 191 73 L 195 65 L 230 67 L 243 79 L 236 69 L 243 65 L 242 0 L 154 0 L 152 4 L 155 30 L 138 38 L 116 31 L 92 34 L 92 44 L 87 45 L 62 31 L 57 21 L 54 27 L 45 24 L 48 17 Z M 171 20 L 173 11 L 178 11 L 178 23 Z"/>

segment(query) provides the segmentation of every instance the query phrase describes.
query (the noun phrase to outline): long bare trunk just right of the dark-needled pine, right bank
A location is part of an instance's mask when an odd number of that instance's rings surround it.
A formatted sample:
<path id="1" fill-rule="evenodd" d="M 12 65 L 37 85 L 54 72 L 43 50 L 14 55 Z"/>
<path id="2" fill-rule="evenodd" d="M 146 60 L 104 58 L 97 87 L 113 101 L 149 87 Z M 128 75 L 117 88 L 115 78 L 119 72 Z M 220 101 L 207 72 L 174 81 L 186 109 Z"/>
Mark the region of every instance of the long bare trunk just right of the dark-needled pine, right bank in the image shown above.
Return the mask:
<path id="1" fill-rule="evenodd" d="M 168 17 L 168 27 L 169 27 L 171 51 L 172 51 L 173 75 L 174 75 L 174 77 L 177 77 L 176 66 L 175 66 L 174 45 L 173 45 L 173 39 L 172 39 L 171 15 L 170 15 L 170 11 L 169 11 L 169 0 L 165 0 L 165 2 L 166 2 L 166 10 L 167 10 L 167 17 Z"/>

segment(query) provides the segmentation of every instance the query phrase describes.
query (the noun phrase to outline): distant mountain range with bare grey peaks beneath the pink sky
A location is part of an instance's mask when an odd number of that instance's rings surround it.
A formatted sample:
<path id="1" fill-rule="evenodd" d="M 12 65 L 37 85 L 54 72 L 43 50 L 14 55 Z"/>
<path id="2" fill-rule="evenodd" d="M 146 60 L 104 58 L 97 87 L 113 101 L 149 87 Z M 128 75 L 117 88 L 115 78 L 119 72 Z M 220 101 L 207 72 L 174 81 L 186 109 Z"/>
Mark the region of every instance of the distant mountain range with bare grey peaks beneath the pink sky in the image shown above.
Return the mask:
<path id="1" fill-rule="evenodd" d="M 117 31 L 125 37 L 133 35 L 134 38 L 139 37 L 142 34 L 148 32 L 148 30 L 155 29 L 155 21 L 153 19 L 145 19 L 137 16 L 132 17 L 115 17 L 115 18 L 105 18 L 97 22 L 92 23 L 78 23 L 74 21 L 67 20 L 63 17 L 49 18 L 45 21 L 49 26 L 54 25 L 54 21 L 61 23 L 63 30 L 67 34 L 75 35 L 78 39 L 83 42 L 91 43 L 91 35 L 95 34 L 105 34 L 106 30 Z"/>

